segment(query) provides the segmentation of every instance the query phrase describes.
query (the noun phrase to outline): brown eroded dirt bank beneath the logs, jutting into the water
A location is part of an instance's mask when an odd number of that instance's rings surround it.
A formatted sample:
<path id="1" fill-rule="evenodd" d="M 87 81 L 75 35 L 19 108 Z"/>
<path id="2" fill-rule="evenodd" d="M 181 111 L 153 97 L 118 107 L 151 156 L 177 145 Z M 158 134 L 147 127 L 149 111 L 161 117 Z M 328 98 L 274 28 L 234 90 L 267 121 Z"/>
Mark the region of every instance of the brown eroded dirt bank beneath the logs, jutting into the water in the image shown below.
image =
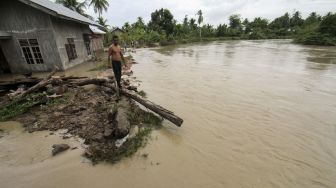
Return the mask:
<path id="1" fill-rule="evenodd" d="M 136 90 L 132 86 L 134 79 L 130 78 L 131 64 L 129 59 L 124 66 L 123 87 Z M 113 76 L 112 70 L 107 69 L 103 61 L 97 67 L 100 70 L 98 77 Z M 161 125 L 161 118 L 109 88 L 99 85 L 66 86 L 66 91 L 61 92 L 59 98 L 49 98 L 46 94 L 45 91 L 48 93 L 50 88 L 55 88 L 50 84 L 20 102 L 13 103 L 2 97 L 2 103 L 6 105 L 0 113 L 8 116 L 6 120 L 21 122 L 28 132 L 66 129 L 63 139 L 72 136 L 85 139 L 84 155 L 93 163 L 116 162 L 131 156 L 144 146 L 151 130 Z M 20 110 L 22 113 L 10 116 Z"/>

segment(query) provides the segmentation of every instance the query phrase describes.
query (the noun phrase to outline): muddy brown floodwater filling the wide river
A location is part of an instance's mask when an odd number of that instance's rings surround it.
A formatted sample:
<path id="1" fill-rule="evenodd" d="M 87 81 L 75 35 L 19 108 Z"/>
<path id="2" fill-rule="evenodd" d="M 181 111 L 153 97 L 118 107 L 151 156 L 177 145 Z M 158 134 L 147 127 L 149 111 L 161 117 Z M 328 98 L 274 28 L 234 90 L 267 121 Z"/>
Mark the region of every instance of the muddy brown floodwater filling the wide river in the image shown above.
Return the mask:
<path id="1" fill-rule="evenodd" d="M 133 57 L 141 89 L 183 117 L 181 128 L 164 122 L 116 165 L 91 166 L 80 149 L 27 162 L 14 144 L 0 151 L 0 187 L 336 187 L 335 47 L 224 41 Z M 8 132 L 1 148 L 43 142 Z"/>

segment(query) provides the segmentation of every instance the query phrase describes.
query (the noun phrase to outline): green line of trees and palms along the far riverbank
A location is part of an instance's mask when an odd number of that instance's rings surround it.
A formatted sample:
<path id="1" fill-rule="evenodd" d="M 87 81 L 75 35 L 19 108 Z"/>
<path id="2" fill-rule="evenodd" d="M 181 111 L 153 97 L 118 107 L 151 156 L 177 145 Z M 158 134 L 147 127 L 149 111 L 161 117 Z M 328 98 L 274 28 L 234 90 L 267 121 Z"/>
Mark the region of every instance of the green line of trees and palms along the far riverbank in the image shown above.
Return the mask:
<path id="1" fill-rule="evenodd" d="M 110 28 L 107 19 L 101 16 L 109 6 L 107 0 L 85 0 L 83 3 L 77 0 L 56 0 L 56 2 L 92 20 L 84 8 L 93 6 L 95 13 L 99 15 L 96 22 L 107 32 L 104 43 L 105 45 L 111 43 L 115 27 Z M 134 23 L 126 22 L 121 28 L 124 33 L 120 37 L 126 43 L 136 41 L 140 45 L 155 43 L 165 45 L 200 40 L 283 38 L 293 38 L 295 42 L 302 44 L 336 45 L 336 13 L 321 16 L 312 12 L 304 19 L 299 11 L 295 11 L 293 14 L 285 13 L 273 20 L 261 17 L 248 20 L 234 14 L 229 17 L 228 24 L 218 26 L 203 23 L 203 20 L 202 10 L 197 11 L 194 17 L 186 15 L 182 22 L 178 22 L 168 9 L 161 8 L 151 13 L 148 23 L 145 23 L 142 17 L 138 17 Z"/>

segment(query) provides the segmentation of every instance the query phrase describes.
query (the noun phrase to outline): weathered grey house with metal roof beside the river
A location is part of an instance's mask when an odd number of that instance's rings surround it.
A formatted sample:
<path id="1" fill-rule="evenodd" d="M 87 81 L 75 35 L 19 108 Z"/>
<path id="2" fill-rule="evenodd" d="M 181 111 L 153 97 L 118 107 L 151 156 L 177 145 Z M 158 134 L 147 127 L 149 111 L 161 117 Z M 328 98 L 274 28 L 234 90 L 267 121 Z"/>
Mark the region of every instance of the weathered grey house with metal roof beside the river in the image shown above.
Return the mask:
<path id="1" fill-rule="evenodd" d="M 0 1 L 0 73 L 62 70 L 91 57 L 92 20 L 49 0 Z"/>

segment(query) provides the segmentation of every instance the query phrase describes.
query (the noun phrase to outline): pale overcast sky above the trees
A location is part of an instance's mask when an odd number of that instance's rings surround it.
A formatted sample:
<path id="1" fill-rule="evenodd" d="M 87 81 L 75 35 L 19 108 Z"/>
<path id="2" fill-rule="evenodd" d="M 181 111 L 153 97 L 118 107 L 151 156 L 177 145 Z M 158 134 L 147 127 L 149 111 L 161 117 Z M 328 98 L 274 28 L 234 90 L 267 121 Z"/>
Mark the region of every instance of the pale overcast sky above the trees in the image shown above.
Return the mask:
<path id="1" fill-rule="evenodd" d="M 240 14 L 249 20 L 263 17 L 269 20 L 298 10 L 303 17 L 312 11 L 319 14 L 336 12 L 336 0 L 108 0 L 110 6 L 103 17 L 108 25 L 122 26 L 125 22 L 133 23 L 138 16 L 146 23 L 150 14 L 156 9 L 168 8 L 178 22 L 182 22 L 185 15 L 195 17 L 198 10 L 203 11 L 204 23 L 218 25 L 227 23 L 232 14 Z M 97 17 L 92 8 L 88 13 Z"/>

